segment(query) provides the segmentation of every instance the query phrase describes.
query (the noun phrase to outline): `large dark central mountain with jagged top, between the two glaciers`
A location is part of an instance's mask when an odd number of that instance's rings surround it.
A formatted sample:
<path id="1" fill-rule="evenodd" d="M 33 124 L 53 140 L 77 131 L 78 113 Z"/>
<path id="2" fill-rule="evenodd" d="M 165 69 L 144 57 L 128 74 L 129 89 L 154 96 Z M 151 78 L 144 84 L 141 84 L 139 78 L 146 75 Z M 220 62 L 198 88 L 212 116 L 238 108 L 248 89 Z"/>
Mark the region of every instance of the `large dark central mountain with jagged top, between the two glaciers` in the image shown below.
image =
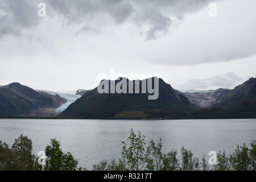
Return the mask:
<path id="1" fill-rule="evenodd" d="M 110 82 L 110 81 L 109 81 Z M 115 80 L 115 84 L 117 84 Z M 132 81 L 134 86 L 134 81 Z M 141 85 L 141 81 L 140 81 Z M 140 88 L 141 90 L 141 88 Z M 100 94 L 97 88 L 86 92 L 59 115 L 61 118 L 180 118 L 198 107 L 159 78 L 159 97 L 148 100 L 148 94 Z"/>

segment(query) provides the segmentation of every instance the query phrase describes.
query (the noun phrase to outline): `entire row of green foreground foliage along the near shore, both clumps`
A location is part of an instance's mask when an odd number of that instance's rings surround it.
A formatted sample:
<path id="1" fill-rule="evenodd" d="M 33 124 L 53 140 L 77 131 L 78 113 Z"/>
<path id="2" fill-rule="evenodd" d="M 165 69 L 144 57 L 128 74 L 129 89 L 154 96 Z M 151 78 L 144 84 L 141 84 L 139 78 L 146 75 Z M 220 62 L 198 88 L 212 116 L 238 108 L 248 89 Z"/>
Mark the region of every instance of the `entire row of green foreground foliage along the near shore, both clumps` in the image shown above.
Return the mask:
<path id="1" fill-rule="evenodd" d="M 180 156 L 176 150 L 167 154 L 162 152 L 162 140 L 158 143 L 151 140 L 147 145 L 145 137 L 140 132 L 135 134 L 130 131 L 127 142 L 122 142 L 122 155 L 119 159 L 110 162 L 103 160 L 93 165 L 93 170 L 98 171 L 122 171 L 122 170 L 156 170 L 156 171 L 207 171 L 208 161 L 203 156 L 196 158 L 190 150 L 181 148 Z M 78 167 L 78 161 L 70 152 L 64 153 L 60 148 L 60 142 L 51 139 L 46 147 L 45 164 L 41 165 L 39 158 L 32 154 L 32 141 L 23 135 L 15 139 L 13 146 L 9 147 L 0 140 L 0 170 L 46 170 L 46 171 L 75 171 L 85 168 Z M 217 164 L 213 170 L 248 170 L 256 169 L 256 141 L 250 146 L 246 144 L 237 146 L 232 155 L 226 155 L 225 151 L 218 152 Z"/>

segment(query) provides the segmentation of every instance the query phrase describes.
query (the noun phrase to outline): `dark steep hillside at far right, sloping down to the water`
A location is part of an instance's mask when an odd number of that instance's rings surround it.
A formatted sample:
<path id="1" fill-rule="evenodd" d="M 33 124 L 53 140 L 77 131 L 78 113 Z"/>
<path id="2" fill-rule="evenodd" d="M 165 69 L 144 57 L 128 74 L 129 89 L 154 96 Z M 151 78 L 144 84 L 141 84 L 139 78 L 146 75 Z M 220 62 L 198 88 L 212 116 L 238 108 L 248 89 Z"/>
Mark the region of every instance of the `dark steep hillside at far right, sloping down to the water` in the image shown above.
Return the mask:
<path id="1" fill-rule="evenodd" d="M 232 90 L 216 90 L 208 109 L 196 111 L 191 118 L 256 118 L 256 78 Z"/>

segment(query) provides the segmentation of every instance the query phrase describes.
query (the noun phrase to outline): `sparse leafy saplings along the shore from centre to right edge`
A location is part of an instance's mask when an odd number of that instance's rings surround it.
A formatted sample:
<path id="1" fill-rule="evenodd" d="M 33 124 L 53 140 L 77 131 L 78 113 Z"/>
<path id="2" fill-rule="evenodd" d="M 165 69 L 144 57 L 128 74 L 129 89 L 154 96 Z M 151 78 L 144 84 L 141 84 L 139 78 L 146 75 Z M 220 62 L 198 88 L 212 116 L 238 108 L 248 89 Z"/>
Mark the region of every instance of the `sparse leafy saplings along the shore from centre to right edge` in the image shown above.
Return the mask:
<path id="1" fill-rule="evenodd" d="M 154 140 L 146 146 L 145 137 L 140 132 L 135 134 L 133 130 L 130 137 L 123 143 L 122 156 L 120 159 L 113 159 L 110 162 L 103 160 L 99 164 L 94 164 L 93 170 L 156 170 L 156 171 L 208 171 L 208 161 L 203 158 L 194 157 L 194 154 L 181 147 L 181 156 L 177 156 L 177 151 L 172 150 L 167 154 L 162 152 L 162 140 L 158 143 Z M 255 171 L 256 169 L 256 141 L 237 146 L 232 155 L 227 156 L 225 151 L 218 152 L 217 164 L 212 170 L 216 171 Z"/>

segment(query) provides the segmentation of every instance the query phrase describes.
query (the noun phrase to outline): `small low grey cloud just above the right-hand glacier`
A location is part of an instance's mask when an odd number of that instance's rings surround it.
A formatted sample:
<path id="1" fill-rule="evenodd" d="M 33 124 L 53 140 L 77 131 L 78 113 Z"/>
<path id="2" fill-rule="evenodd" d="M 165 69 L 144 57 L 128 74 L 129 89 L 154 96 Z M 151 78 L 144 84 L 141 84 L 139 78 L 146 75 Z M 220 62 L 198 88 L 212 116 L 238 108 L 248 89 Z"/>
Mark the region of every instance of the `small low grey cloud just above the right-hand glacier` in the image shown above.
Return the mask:
<path id="1" fill-rule="evenodd" d="M 226 73 L 225 75 L 218 75 L 205 79 L 192 79 L 184 84 L 175 85 L 179 89 L 195 89 L 195 90 L 209 90 L 217 88 L 233 89 L 238 84 L 241 84 L 243 79 L 238 77 L 235 73 Z"/>

